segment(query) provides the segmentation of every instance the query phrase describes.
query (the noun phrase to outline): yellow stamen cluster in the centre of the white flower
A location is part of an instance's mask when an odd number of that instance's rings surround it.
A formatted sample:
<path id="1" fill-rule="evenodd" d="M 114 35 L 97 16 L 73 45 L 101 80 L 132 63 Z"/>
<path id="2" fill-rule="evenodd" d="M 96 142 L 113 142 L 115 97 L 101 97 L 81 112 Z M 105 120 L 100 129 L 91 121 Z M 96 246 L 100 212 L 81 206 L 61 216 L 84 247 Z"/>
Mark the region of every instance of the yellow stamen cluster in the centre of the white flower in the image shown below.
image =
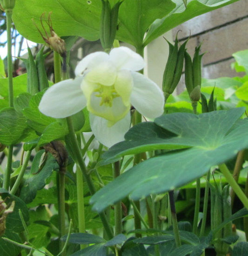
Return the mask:
<path id="1" fill-rule="evenodd" d="M 105 105 L 108 107 L 112 107 L 113 99 L 116 97 L 120 97 L 120 95 L 116 92 L 114 85 L 112 86 L 104 86 L 98 84 L 98 88 L 94 90 L 98 94 L 95 94 L 96 97 L 101 97 L 100 106 Z"/>

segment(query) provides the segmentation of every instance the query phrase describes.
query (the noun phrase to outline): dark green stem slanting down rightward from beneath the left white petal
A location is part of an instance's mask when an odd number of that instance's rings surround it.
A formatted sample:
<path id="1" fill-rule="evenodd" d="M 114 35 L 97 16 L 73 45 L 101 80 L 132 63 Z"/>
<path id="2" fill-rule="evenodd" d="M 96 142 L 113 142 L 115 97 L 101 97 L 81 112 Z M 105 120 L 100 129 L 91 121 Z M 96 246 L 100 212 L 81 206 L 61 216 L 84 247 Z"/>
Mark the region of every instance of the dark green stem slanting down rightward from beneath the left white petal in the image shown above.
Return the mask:
<path id="1" fill-rule="evenodd" d="M 78 141 L 75 137 L 74 127 L 73 127 L 73 122 L 72 122 L 71 117 L 67 117 L 67 125 L 68 125 L 70 140 L 72 141 L 72 144 L 74 147 L 74 153 L 75 153 L 77 162 L 80 166 L 84 180 L 87 183 L 87 186 L 88 186 L 88 189 L 89 189 L 91 195 L 94 195 L 94 193 L 95 193 L 94 184 L 91 180 L 91 177 L 87 174 L 86 166 L 83 161 L 83 155 L 82 155 L 81 149 L 79 147 Z M 99 213 L 99 216 L 101 218 L 103 228 L 105 229 L 108 238 L 109 239 L 113 238 L 113 231 L 112 231 L 109 223 L 107 222 L 107 218 L 106 218 L 105 214 L 103 212 L 101 212 L 101 213 Z"/>

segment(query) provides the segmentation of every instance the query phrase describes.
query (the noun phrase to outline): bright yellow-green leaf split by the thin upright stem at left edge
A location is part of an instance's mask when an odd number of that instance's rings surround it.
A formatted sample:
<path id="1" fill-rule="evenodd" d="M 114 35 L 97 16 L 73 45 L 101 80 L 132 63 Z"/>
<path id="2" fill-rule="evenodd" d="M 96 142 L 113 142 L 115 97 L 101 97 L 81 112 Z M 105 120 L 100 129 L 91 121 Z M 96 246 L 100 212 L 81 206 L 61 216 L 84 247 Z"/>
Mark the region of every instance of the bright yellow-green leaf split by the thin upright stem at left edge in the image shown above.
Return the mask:
<path id="1" fill-rule="evenodd" d="M 0 109 L 9 106 L 8 98 L 8 78 L 0 78 Z M 27 74 L 22 74 L 13 78 L 13 94 L 17 97 L 21 93 L 27 92 Z"/>

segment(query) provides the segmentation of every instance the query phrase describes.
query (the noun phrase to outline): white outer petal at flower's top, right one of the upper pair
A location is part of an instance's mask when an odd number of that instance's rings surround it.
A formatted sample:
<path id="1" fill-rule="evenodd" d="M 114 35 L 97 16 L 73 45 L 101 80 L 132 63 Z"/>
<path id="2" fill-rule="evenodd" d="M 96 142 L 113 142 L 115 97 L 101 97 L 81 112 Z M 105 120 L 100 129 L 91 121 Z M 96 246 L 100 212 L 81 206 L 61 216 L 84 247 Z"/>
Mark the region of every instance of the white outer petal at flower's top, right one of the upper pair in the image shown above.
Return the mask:
<path id="1" fill-rule="evenodd" d="M 109 56 L 118 70 L 127 69 L 138 71 L 145 66 L 145 61 L 140 54 L 136 54 L 134 51 L 124 46 L 112 49 Z"/>

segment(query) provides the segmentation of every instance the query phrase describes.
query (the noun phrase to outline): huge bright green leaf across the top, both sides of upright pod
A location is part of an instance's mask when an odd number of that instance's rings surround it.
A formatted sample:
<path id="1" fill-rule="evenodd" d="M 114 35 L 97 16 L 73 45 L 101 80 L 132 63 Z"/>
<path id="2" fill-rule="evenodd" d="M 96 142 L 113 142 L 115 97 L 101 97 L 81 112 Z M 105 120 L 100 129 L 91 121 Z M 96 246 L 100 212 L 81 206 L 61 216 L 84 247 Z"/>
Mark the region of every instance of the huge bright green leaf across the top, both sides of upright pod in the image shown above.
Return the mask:
<path id="1" fill-rule="evenodd" d="M 113 6 L 116 0 L 110 0 Z M 13 21 L 20 34 L 29 40 L 43 43 L 34 22 L 45 35 L 40 25 L 40 16 L 46 19 L 52 12 L 53 29 L 59 36 L 80 36 L 87 40 L 99 39 L 101 0 L 19 0 L 13 10 Z M 117 38 L 141 47 L 148 27 L 156 19 L 171 12 L 175 4 L 171 0 L 125 0 L 119 10 Z M 47 24 L 43 21 L 48 31 Z"/>

